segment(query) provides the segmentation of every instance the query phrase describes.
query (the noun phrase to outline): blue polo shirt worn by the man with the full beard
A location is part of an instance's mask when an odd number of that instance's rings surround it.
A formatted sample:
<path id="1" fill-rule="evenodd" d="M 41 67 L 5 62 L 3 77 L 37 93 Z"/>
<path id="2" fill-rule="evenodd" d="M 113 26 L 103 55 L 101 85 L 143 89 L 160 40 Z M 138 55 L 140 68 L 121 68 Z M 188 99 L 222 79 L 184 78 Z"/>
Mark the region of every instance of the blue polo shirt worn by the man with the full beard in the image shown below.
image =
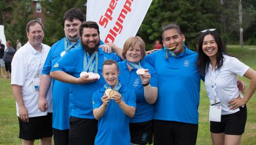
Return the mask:
<path id="1" fill-rule="evenodd" d="M 121 59 L 114 53 L 104 53 L 99 48 L 98 54 L 98 73 L 100 79 L 90 83 L 84 84 L 70 84 L 70 115 L 78 118 L 94 118 L 92 113 L 92 95 L 93 92 L 101 88 L 105 84 L 102 73 L 102 64 L 107 59 L 114 59 L 119 62 Z M 76 78 L 80 77 L 80 73 L 84 67 L 84 49 L 82 46 L 69 50 L 60 60 L 54 64 L 51 71 L 63 71 Z"/>

